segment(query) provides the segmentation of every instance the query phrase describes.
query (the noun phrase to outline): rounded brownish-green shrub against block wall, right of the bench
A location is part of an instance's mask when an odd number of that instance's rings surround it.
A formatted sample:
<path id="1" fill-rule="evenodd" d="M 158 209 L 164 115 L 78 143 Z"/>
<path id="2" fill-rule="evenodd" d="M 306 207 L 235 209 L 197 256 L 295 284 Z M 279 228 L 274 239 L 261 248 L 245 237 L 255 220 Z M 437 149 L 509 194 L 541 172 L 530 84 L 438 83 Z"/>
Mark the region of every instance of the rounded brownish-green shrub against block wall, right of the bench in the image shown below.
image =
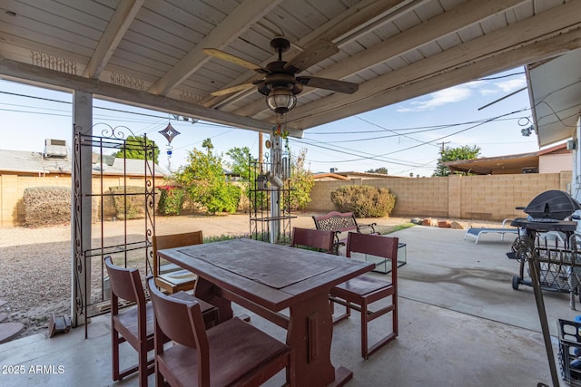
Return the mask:
<path id="1" fill-rule="evenodd" d="M 330 199 L 340 212 L 352 212 L 356 218 L 389 217 L 396 197 L 389 189 L 370 186 L 341 186 L 330 193 Z"/>

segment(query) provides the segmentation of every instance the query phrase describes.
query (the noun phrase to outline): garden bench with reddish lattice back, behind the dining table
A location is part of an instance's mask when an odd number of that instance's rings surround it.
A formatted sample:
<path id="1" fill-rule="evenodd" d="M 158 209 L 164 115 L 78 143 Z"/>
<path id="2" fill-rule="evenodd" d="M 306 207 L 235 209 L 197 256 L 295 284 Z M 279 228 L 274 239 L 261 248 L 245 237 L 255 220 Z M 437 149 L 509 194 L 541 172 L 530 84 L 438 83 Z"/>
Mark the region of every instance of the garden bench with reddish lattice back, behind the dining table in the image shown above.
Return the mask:
<path id="1" fill-rule="evenodd" d="M 377 223 L 359 225 L 352 212 L 331 211 L 329 214 L 321 215 L 320 217 L 313 216 L 312 219 L 315 221 L 315 227 L 318 230 L 335 232 L 333 247 L 337 255 L 339 255 L 339 248 L 347 243 L 347 234 L 351 231 L 379 235 L 379 232 L 375 230 Z M 365 232 L 363 232 L 364 230 Z M 340 236 L 341 233 L 343 234 L 342 236 Z"/>

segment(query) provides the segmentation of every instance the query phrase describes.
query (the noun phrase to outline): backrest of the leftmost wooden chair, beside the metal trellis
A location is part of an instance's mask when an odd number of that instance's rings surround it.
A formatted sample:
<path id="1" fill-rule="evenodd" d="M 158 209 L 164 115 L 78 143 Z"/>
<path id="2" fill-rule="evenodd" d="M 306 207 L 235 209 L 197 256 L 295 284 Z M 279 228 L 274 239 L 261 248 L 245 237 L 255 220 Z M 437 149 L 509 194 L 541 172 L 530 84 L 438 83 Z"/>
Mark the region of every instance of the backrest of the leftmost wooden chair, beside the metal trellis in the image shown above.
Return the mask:
<path id="1" fill-rule="evenodd" d="M 103 260 L 113 294 L 112 301 L 116 301 L 115 298 L 119 297 L 137 305 L 145 305 L 145 292 L 139 271 L 136 268 L 115 266 L 111 256 L 105 256 Z"/>

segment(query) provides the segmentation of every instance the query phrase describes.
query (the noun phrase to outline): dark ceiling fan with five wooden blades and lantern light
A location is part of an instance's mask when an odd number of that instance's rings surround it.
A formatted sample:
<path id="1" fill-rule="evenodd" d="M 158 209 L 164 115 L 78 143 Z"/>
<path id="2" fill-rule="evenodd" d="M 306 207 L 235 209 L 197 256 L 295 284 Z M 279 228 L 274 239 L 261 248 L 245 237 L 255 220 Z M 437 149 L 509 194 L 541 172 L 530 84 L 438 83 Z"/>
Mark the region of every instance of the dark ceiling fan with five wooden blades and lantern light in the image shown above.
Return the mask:
<path id="1" fill-rule="evenodd" d="M 315 63 L 329 58 L 335 53 L 339 53 L 339 48 L 332 42 L 320 40 L 310 44 L 302 53 L 291 59 L 289 62 L 282 61 L 282 53 L 291 48 L 291 43 L 283 36 L 276 36 L 271 40 L 271 48 L 278 53 L 278 61 L 268 63 L 266 68 L 258 64 L 246 61 L 238 56 L 224 53 L 214 48 L 204 48 L 203 52 L 213 57 L 241 65 L 264 75 L 261 80 L 242 83 L 226 89 L 212 92 L 212 95 L 220 96 L 249 89 L 253 85 L 258 86 L 258 92 L 266 96 L 269 108 L 278 113 L 284 114 L 290 111 L 297 102 L 296 95 L 302 92 L 303 86 L 326 89 L 333 92 L 344 92 L 352 94 L 357 92 L 359 84 L 353 82 L 337 81 L 327 78 L 311 76 L 295 76 L 303 70 L 308 69 Z"/>

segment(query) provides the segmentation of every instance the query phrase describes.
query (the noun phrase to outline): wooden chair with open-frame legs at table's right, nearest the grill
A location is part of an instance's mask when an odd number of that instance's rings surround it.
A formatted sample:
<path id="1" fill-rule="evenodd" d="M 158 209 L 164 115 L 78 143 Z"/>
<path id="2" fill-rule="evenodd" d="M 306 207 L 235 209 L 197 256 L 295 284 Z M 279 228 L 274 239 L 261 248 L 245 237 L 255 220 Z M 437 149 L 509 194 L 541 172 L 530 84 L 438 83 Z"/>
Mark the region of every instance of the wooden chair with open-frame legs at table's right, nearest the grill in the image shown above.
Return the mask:
<path id="1" fill-rule="evenodd" d="M 391 282 L 383 281 L 369 275 L 357 276 L 333 287 L 330 291 L 332 303 L 344 305 L 345 314 L 336 317 L 333 324 L 350 316 L 355 309 L 361 314 L 361 356 L 364 359 L 398 336 L 398 238 L 382 237 L 372 234 L 349 233 L 347 237 L 347 256 L 351 253 L 363 253 L 381 256 L 391 263 Z M 391 303 L 375 311 L 369 305 L 391 296 Z M 368 324 L 383 314 L 392 314 L 391 330 L 386 332 L 377 343 L 368 345 Z"/>

